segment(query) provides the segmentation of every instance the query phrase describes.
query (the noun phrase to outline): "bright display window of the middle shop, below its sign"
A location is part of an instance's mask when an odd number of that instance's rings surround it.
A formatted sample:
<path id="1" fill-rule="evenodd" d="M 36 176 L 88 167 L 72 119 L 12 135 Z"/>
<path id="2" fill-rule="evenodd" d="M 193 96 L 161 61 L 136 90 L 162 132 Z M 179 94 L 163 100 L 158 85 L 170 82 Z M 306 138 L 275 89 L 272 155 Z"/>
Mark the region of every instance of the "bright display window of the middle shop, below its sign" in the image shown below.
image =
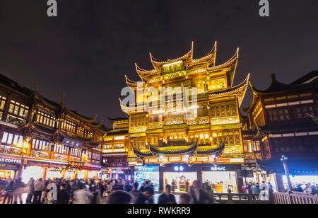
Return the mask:
<path id="1" fill-rule="evenodd" d="M 193 181 L 197 180 L 196 172 L 165 172 L 163 173 L 164 185 L 171 185 L 173 192 L 189 192 Z"/>

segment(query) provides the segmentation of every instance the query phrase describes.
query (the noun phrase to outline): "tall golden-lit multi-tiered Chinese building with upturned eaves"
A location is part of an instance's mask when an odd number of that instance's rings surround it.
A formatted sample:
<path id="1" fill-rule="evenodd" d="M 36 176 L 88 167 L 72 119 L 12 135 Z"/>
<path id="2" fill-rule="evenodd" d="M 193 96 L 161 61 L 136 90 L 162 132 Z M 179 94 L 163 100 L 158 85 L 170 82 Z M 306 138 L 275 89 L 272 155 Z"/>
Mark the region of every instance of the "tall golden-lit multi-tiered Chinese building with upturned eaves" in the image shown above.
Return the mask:
<path id="1" fill-rule="evenodd" d="M 142 82 L 126 78 L 135 104 L 121 101 L 129 116 L 128 163 L 136 180 L 149 178 L 160 190 L 175 180 L 180 191 L 186 180 L 208 180 L 220 192 L 238 192 L 242 179 L 236 171 L 245 164 L 239 108 L 249 81 L 247 76 L 233 86 L 238 52 L 218 65 L 216 44 L 194 59 L 192 43 L 177 59 L 160 61 L 151 54 L 151 70 L 136 65 Z"/>

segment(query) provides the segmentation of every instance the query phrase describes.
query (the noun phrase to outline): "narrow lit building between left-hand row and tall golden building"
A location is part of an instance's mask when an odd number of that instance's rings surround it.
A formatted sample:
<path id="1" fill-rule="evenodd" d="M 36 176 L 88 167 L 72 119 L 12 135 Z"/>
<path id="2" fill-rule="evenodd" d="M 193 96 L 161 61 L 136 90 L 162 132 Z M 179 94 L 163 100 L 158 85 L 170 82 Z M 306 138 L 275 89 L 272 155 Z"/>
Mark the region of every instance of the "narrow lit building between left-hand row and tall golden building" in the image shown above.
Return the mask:
<path id="1" fill-rule="evenodd" d="M 129 121 L 127 118 L 110 118 L 112 130 L 105 134 L 102 146 L 103 178 L 129 179 L 127 164 Z"/>

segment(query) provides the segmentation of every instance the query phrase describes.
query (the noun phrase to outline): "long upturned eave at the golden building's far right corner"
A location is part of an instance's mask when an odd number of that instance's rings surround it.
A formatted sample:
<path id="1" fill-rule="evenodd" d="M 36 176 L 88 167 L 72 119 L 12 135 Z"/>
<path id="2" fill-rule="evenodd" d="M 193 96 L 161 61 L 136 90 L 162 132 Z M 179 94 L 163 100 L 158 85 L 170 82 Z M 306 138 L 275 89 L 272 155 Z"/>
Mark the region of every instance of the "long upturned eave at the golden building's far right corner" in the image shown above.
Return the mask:
<path id="1" fill-rule="evenodd" d="M 236 94 L 242 94 L 242 99 L 239 103 L 239 106 L 242 103 L 242 100 L 245 96 L 245 93 L 247 91 L 247 87 L 248 87 L 248 83 L 249 83 L 249 76 L 251 76 L 251 74 L 247 75 L 247 78 L 245 79 L 245 81 L 243 81 L 241 84 L 238 84 L 237 86 L 232 86 L 230 88 L 225 88 L 222 90 L 217 90 L 217 91 L 210 91 L 208 93 L 209 97 L 218 97 L 218 96 L 224 96 L 224 95 L 236 95 Z"/>

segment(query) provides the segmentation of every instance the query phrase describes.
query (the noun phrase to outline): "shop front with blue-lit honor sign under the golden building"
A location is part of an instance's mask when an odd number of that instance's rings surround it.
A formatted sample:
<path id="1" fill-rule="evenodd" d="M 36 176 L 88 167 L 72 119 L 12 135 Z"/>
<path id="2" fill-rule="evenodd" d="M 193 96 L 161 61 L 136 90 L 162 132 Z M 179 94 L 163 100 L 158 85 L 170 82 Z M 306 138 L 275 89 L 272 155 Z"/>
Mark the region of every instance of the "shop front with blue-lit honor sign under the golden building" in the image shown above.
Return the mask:
<path id="1" fill-rule="evenodd" d="M 159 190 L 159 166 L 135 166 L 134 167 L 134 181 L 143 184 L 144 180 L 151 180 L 155 191 Z"/>

